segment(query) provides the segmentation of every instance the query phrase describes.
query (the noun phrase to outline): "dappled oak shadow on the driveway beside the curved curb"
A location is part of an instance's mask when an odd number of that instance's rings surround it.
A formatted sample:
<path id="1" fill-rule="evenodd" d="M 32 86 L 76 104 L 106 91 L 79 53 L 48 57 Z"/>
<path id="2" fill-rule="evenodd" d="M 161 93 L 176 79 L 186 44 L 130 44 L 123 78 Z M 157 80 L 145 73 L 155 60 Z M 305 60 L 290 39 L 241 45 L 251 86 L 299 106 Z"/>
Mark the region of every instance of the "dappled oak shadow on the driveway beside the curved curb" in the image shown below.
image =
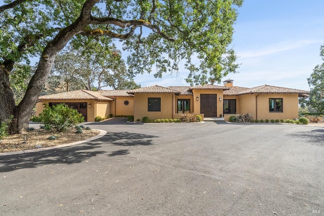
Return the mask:
<path id="1" fill-rule="evenodd" d="M 49 164 L 81 163 L 108 152 L 110 152 L 110 154 L 105 154 L 107 157 L 128 155 L 130 154 L 129 150 L 111 151 L 110 148 L 113 146 L 153 145 L 152 141 L 155 137 L 157 136 L 129 132 L 107 133 L 99 139 L 71 147 L 19 155 L 0 156 L 0 172 L 36 168 Z"/>

